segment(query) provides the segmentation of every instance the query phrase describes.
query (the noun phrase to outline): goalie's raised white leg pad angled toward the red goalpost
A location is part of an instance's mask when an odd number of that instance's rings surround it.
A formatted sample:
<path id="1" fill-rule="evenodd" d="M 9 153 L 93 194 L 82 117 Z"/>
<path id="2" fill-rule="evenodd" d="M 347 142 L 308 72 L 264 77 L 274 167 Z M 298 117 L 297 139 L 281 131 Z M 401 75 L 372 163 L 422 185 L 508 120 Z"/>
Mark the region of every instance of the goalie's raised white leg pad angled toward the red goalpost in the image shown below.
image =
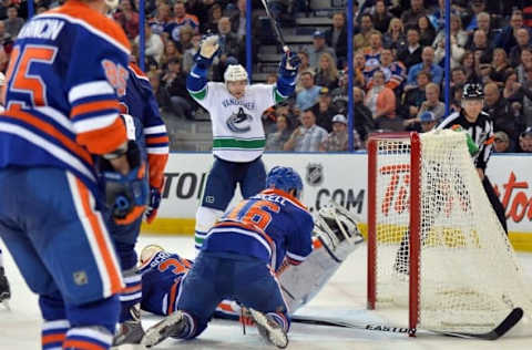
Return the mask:
<path id="1" fill-rule="evenodd" d="M 314 250 L 298 266 L 287 266 L 278 278 L 290 312 L 310 301 L 364 238 L 357 220 L 336 205 L 315 216 Z"/>

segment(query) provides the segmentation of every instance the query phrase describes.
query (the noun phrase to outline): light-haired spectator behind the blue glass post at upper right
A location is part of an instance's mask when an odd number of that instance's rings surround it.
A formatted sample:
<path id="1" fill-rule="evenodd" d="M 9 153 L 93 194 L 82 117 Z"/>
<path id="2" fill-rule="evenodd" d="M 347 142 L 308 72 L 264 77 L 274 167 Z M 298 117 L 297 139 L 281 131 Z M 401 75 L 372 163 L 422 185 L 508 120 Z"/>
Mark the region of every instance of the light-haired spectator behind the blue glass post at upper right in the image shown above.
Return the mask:
<path id="1" fill-rule="evenodd" d="M 466 50 L 463 49 L 468 42 L 469 33 L 462 29 L 462 21 L 459 16 L 451 16 L 451 69 L 460 66 L 460 60 L 462 59 Z M 438 32 L 434 42 L 434 62 L 443 61 L 446 56 L 446 31 L 444 29 Z"/>

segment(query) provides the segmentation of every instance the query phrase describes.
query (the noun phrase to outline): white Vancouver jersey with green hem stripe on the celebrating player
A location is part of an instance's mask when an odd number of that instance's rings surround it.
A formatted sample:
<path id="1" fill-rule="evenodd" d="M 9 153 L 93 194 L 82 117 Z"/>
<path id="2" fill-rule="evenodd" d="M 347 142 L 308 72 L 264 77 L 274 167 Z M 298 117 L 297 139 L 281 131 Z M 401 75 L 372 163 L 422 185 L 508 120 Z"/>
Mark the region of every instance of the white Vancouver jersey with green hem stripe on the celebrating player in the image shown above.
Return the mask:
<path id="1" fill-rule="evenodd" d="M 265 110 L 286 99 L 276 85 L 246 86 L 242 99 L 235 99 L 225 83 L 205 82 L 192 86 L 191 73 L 187 89 L 191 96 L 211 114 L 213 124 L 213 153 L 229 162 L 250 162 L 259 157 L 266 145 L 262 115 Z"/>

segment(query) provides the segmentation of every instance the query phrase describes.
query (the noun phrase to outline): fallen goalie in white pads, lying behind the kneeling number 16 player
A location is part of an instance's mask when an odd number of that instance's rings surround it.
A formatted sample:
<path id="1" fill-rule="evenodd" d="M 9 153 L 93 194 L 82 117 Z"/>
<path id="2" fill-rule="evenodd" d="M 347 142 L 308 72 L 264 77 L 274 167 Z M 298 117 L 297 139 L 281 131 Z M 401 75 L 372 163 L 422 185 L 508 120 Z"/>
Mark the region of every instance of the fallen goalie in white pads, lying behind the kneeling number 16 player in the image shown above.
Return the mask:
<path id="1" fill-rule="evenodd" d="M 331 204 L 315 215 L 313 253 L 298 266 L 286 260 L 277 272 L 288 312 L 295 313 L 325 286 L 347 256 L 362 241 L 357 220 L 346 209 Z M 194 264 L 162 247 L 150 245 L 141 254 L 143 274 L 142 309 L 160 316 L 176 311 L 182 277 Z M 214 317 L 238 319 L 235 300 L 222 301 Z"/>

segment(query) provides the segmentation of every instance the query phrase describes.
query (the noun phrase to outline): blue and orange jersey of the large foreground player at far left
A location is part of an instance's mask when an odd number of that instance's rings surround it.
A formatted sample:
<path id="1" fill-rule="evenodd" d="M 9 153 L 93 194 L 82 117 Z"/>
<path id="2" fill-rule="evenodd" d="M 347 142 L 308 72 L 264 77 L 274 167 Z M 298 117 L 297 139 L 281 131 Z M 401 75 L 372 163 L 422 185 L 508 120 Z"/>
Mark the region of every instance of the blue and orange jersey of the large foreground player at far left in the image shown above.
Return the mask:
<path id="1" fill-rule="evenodd" d="M 81 1 L 28 21 L 7 72 L 0 167 L 66 168 L 98 194 L 92 155 L 126 141 L 117 97 L 129 54 L 123 30 Z"/>

